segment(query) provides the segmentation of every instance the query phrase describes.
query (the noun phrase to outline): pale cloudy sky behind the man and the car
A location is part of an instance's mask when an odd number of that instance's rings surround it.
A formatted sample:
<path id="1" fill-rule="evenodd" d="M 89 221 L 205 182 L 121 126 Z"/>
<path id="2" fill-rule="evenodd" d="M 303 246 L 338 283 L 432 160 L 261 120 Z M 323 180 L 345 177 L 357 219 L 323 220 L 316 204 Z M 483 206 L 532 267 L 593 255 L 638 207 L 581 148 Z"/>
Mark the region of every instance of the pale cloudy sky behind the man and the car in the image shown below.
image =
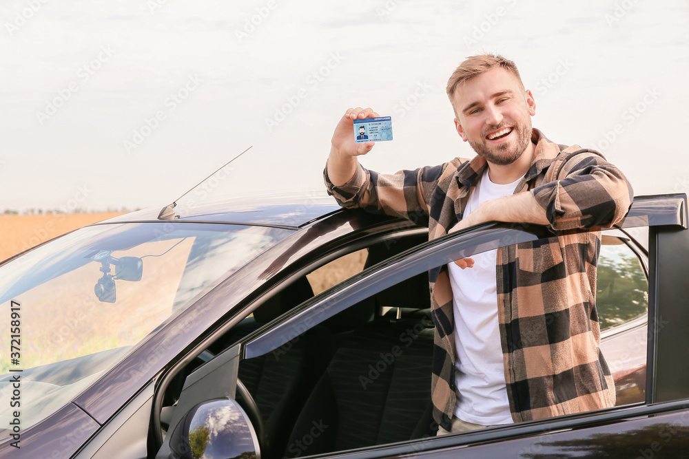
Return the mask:
<path id="1" fill-rule="evenodd" d="M 475 153 L 447 78 L 511 58 L 533 125 L 636 195 L 689 189 L 688 0 L 3 0 L 0 213 L 323 191 L 348 107 L 391 116 L 380 172 Z"/>

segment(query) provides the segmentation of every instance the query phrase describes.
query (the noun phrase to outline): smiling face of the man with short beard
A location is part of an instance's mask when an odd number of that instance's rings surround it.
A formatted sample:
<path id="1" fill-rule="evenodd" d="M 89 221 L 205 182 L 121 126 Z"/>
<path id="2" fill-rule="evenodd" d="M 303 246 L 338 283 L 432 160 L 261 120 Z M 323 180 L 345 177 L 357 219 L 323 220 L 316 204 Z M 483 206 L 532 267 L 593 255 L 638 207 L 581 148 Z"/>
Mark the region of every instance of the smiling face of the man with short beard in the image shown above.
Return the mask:
<path id="1" fill-rule="evenodd" d="M 462 140 L 493 164 L 512 164 L 531 141 L 536 105 L 513 74 L 496 67 L 465 81 L 452 99 Z"/>

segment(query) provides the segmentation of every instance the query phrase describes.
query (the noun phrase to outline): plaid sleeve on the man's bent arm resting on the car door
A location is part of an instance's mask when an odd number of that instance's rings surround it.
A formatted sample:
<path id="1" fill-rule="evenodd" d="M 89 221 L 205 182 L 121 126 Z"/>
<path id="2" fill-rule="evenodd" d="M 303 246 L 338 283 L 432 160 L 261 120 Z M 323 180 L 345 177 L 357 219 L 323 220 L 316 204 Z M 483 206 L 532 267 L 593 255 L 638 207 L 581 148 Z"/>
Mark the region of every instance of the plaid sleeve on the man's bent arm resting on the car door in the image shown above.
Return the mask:
<path id="1" fill-rule="evenodd" d="M 634 198 L 624 174 L 594 151 L 574 154 L 562 165 L 557 180 L 531 192 L 554 231 L 610 228 L 624 218 Z"/>

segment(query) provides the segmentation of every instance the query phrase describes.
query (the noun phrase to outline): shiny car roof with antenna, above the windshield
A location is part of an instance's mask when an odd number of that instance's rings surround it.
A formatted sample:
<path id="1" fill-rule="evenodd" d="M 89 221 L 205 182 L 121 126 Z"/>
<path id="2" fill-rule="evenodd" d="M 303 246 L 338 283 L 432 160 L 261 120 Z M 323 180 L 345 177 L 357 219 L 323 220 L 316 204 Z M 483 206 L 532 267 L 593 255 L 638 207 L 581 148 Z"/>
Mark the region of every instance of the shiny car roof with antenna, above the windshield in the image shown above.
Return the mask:
<path id="1" fill-rule="evenodd" d="M 104 220 L 99 224 L 123 222 L 165 222 L 158 220 L 160 207 L 150 207 Z M 180 202 L 174 207 L 177 222 L 213 222 L 258 224 L 300 228 L 340 210 L 336 200 L 324 191 L 280 193 L 227 198 L 189 205 Z"/>

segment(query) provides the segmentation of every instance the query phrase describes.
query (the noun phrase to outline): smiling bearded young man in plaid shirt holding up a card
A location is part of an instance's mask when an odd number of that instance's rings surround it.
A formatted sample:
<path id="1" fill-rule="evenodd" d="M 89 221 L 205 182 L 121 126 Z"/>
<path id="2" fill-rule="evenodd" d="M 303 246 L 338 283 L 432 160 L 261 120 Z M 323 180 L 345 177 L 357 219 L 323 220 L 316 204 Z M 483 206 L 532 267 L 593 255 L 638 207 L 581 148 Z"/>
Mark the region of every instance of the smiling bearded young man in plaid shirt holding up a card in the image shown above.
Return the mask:
<path id="1" fill-rule="evenodd" d="M 599 153 L 532 129 L 533 94 L 502 56 L 468 58 L 447 94 L 473 159 L 368 171 L 356 157 L 374 143 L 354 142 L 352 120 L 379 115 L 356 108 L 336 127 L 325 169 L 340 205 L 427 224 L 429 239 L 490 221 L 553 232 L 429 272 L 439 434 L 613 406 L 615 384 L 599 350 L 596 266 L 599 230 L 626 215 L 629 182 Z"/>

